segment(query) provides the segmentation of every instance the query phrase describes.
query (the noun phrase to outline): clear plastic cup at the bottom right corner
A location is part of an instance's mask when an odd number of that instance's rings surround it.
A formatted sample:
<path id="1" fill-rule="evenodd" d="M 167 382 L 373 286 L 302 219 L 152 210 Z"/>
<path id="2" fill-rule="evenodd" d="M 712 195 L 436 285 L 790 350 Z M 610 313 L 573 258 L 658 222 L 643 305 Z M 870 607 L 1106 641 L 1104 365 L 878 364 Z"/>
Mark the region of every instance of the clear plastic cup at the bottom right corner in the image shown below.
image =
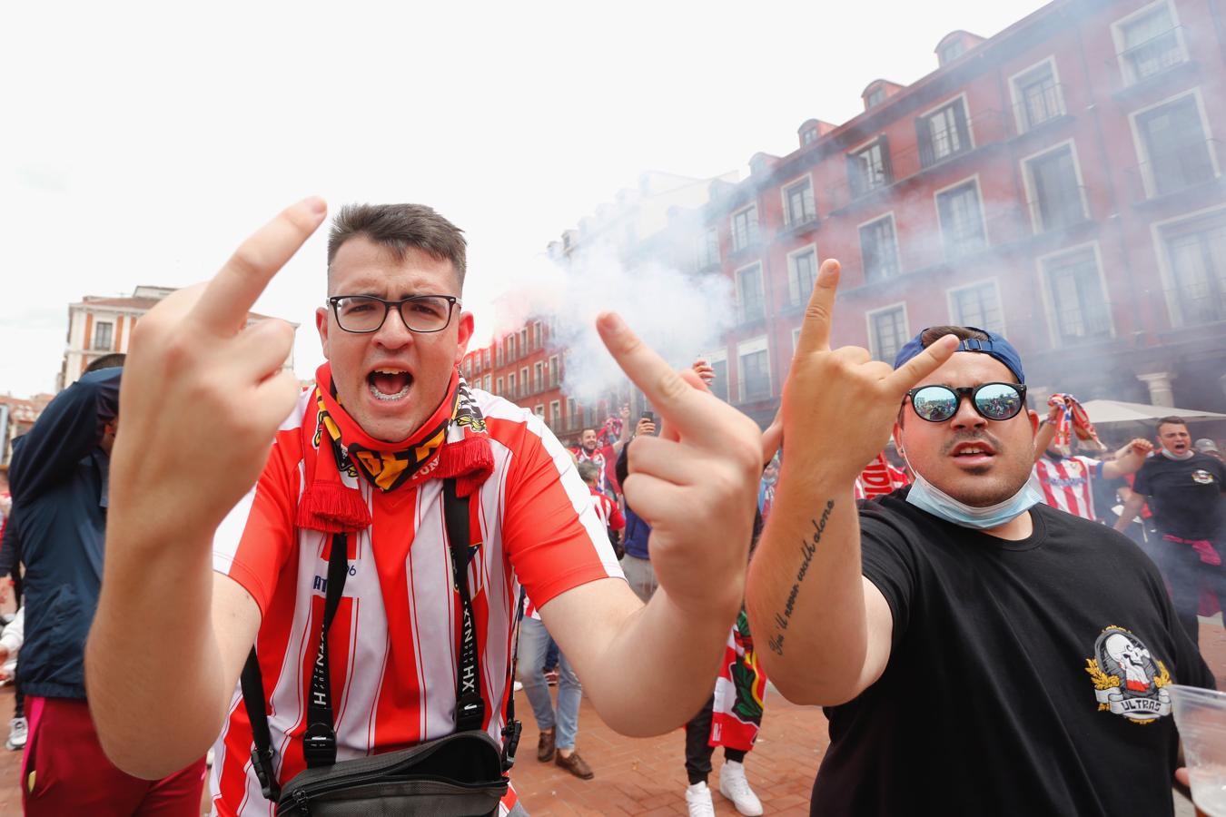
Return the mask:
<path id="1" fill-rule="evenodd" d="M 1226 817 L 1226 692 L 1172 683 L 1175 725 L 1192 783 L 1192 802 L 1209 817 Z"/>

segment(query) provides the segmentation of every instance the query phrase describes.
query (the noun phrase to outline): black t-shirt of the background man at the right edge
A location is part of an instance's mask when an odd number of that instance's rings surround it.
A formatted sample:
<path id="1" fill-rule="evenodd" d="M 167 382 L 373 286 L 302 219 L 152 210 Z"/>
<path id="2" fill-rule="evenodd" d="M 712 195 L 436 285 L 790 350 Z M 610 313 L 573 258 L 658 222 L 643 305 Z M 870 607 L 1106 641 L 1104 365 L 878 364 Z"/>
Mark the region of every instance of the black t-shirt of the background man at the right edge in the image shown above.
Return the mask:
<path id="1" fill-rule="evenodd" d="M 1181 539 L 1213 539 L 1221 528 L 1226 464 L 1208 454 L 1187 459 L 1156 454 L 1137 472 L 1133 489 L 1149 497 L 1154 523 Z"/>

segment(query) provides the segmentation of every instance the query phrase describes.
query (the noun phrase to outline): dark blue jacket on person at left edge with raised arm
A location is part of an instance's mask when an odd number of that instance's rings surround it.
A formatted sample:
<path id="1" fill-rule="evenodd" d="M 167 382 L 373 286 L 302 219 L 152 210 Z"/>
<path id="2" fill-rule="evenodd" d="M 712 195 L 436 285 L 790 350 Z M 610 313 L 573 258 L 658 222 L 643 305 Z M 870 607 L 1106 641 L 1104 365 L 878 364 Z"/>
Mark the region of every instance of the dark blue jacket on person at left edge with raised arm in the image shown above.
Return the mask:
<path id="1" fill-rule="evenodd" d="M 31 696 L 85 698 L 85 639 L 102 587 L 107 472 L 98 447 L 119 405 L 121 369 L 85 375 L 13 442 L 9 481 L 26 565 L 26 643 L 17 683 Z"/>

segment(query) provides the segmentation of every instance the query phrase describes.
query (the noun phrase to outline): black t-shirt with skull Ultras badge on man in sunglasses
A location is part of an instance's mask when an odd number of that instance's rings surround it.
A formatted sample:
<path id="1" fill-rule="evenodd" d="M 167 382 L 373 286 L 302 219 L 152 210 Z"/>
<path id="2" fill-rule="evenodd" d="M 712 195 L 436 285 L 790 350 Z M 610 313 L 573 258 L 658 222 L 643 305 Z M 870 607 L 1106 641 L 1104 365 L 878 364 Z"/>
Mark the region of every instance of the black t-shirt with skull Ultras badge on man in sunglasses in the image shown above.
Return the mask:
<path id="1" fill-rule="evenodd" d="M 1046 505 L 997 539 L 861 503 L 863 572 L 894 615 L 881 677 L 828 707 L 813 815 L 1170 815 L 1162 690 L 1213 687 L 1154 563 Z"/>

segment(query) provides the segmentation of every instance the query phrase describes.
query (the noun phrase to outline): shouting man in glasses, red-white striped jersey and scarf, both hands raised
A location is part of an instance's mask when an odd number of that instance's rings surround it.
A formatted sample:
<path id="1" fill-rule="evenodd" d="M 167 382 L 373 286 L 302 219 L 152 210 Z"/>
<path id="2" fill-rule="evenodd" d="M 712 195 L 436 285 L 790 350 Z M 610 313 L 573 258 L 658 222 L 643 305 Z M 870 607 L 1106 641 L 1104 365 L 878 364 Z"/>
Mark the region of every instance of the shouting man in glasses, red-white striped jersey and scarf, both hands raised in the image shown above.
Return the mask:
<path id="1" fill-rule="evenodd" d="M 644 606 L 565 448 L 530 412 L 459 377 L 473 327 L 460 309 L 465 241 L 433 209 L 360 206 L 337 217 L 327 305 L 316 312 L 327 363 L 314 390 L 282 369 L 288 325 L 240 328 L 325 209 L 318 198 L 289 207 L 132 337 L 121 394 L 131 431 L 112 467 L 113 544 L 87 660 L 108 755 L 158 777 L 216 737 L 217 812 L 266 815 L 235 683 L 255 644 L 284 784 L 304 767 L 337 533 L 348 549 L 327 649 L 337 759 L 454 731 L 460 605 L 440 478 L 470 497 L 467 578 L 489 735 L 501 734 L 520 585 L 606 723 L 630 735 L 679 726 L 709 695 L 741 604 L 756 426 L 669 369 L 617 315 L 598 318 L 671 429 L 635 446 L 624 486 L 652 525 L 661 593 Z M 642 664 L 667 669 L 625 671 Z"/>

